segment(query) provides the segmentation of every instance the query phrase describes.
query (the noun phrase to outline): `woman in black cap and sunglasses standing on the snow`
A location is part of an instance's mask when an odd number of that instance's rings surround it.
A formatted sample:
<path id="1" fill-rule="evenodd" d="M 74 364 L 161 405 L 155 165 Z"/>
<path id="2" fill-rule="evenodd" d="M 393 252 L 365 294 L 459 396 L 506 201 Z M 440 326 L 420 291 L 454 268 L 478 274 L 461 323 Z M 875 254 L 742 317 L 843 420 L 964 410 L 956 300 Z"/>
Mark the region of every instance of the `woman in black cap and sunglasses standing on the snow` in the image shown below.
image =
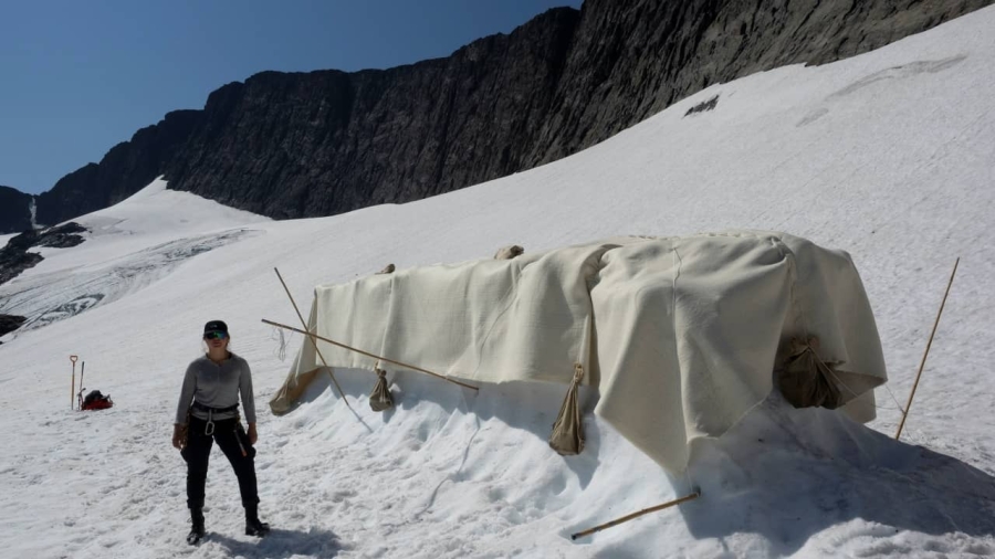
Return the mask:
<path id="1" fill-rule="evenodd" d="M 187 461 L 187 506 L 192 528 L 187 541 L 203 538 L 203 486 L 208 458 L 214 441 L 228 456 L 239 478 L 242 506 L 245 507 L 245 535 L 265 536 L 270 525 L 259 520 L 259 494 L 255 485 L 255 403 L 249 363 L 228 350 L 228 325 L 211 320 L 203 326 L 208 351 L 187 367 L 172 445 Z M 249 432 L 239 419 L 239 395 L 245 410 Z"/>

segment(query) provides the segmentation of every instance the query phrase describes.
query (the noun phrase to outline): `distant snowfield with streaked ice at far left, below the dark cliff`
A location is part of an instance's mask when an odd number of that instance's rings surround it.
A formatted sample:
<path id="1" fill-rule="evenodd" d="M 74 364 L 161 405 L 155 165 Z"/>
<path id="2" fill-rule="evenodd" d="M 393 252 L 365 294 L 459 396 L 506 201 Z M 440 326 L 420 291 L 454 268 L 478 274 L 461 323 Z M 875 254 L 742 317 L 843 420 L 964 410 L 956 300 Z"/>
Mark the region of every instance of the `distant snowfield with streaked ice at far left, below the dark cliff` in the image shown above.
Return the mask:
<path id="1" fill-rule="evenodd" d="M 0 313 L 27 317 L 22 331 L 41 328 L 136 293 L 185 260 L 252 234 L 239 228 L 261 221 L 269 219 L 166 190 L 156 180 L 117 205 L 75 220 L 91 242 L 74 251 L 33 249 L 45 260 L 0 286 Z"/>

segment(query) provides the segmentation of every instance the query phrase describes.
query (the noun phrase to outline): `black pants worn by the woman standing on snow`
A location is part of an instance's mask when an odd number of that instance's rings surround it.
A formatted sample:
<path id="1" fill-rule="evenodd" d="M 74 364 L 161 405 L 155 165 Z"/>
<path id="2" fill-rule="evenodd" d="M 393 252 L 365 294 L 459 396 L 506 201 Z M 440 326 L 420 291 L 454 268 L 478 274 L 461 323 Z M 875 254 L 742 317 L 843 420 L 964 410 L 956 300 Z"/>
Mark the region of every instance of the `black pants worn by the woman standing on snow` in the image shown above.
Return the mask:
<path id="1" fill-rule="evenodd" d="M 187 461 L 187 506 L 203 507 L 203 486 L 207 482 L 208 460 L 214 441 L 221 452 L 228 456 L 235 476 L 239 478 L 239 492 L 242 494 L 242 506 L 255 508 L 259 505 L 259 492 L 255 485 L 255 449 L 249 444 L 249 435 L 237 419 L 214 421 L 213 434 L 205 434 L 207 421 L 190 418 L 187 431 L 187 445 L 180 453 Z"/>

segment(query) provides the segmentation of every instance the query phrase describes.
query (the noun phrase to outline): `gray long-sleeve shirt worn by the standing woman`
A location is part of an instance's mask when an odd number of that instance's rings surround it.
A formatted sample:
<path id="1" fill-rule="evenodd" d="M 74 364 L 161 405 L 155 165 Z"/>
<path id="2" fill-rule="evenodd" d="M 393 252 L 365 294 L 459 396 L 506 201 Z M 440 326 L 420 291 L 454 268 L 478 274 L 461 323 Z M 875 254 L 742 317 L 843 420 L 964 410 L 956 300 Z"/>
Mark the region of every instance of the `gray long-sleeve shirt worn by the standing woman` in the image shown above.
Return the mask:
<path id="1" fill-rule="evenodd" d="M 242 397 L 242 409 L 245 421 L 255 423 L 255 400 L 252 394 L 252 372 L 249 363 L 241 357 L 229 352 L 231 357 L 216 363 L 207 356 L 195 359 L 187 367 L 184 388 L 180 390 L 179 405 L 176 407 L 176 422 L 187 423 L 187 411 L 193 401 L 210 408 L 228 408 L 239 403 Z M 234 418 L 238 412 L 214 413 L 212 419 Z M 208 412 L 193 409 L 190 414 L 199 419 L 208 419 Z"/>

